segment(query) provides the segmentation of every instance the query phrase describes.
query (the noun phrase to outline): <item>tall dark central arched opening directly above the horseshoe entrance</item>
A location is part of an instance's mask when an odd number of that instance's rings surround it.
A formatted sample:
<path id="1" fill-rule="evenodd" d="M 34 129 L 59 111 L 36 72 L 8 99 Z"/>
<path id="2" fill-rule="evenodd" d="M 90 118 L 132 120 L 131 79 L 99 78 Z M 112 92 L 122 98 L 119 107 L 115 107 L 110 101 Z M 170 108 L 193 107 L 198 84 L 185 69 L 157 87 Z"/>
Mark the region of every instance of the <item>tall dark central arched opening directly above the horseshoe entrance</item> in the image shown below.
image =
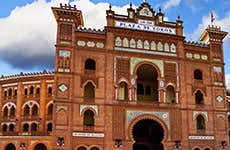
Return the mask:
<path id="1" fill-rule="evenodd" d="M 158 101 L 158 73 L 151 65 L 143 64 L 137 69 L 137 99 Z"/>

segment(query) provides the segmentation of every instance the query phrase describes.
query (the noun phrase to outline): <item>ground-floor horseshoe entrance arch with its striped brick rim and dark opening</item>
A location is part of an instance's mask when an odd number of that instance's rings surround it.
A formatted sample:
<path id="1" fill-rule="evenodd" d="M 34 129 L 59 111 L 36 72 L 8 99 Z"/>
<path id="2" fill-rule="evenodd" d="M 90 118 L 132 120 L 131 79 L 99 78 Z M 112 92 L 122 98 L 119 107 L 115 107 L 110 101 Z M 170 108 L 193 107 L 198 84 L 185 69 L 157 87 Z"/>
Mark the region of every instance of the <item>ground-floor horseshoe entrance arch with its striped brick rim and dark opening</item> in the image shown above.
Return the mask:
<path id="1" fill-rule="evenodd" d="M 168 128 L 164 122 L 153 115 L 135 118 L 128 127 L 133 150 L 164 150 L 168 137 Z"/>

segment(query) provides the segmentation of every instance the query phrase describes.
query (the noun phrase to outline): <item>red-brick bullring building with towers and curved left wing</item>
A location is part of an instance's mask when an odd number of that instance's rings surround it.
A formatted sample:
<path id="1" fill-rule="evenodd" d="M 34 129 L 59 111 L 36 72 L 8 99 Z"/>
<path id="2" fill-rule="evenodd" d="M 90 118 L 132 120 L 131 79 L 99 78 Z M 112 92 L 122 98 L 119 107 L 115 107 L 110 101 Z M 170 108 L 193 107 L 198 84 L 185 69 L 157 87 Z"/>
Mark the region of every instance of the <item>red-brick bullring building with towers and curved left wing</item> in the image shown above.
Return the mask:
<path id="1" fill-rule="evenodd" d="M 165 21 L 146 2 L 128 15 L 110 6 L 102 31 L 83 28 L 75 6 L 52 10 L 55 73 L 0 79 L 0 148 L 228 149 L 226 32 L 186 41 L 180 17 Z"/>

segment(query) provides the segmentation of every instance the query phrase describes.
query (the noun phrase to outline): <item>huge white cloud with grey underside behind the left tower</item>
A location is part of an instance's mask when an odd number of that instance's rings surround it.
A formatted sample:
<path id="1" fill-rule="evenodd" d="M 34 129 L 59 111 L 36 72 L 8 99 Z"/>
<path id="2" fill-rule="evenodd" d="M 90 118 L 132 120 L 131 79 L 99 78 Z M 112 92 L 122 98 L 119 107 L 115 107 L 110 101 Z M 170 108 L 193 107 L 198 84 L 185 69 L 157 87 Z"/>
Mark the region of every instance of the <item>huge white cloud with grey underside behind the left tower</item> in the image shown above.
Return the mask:
<path id="1" fill-rule="evenodd" d="M 57 25 L 51 7 L 59 7 L 60 3 L 68 4 L 69 0 L 37 0 L 15 8 L 8 17 L 0 18 L 0 60 L 22 69 L 41 64 L 52 68 Z M 82 11 L 86 27 L 103 29 L 106 25 L 108 3 L 74 0 L 70 4 L 77 5 Z M 114 6 L 112 9 L 126 14 L 127 7 Z"/>

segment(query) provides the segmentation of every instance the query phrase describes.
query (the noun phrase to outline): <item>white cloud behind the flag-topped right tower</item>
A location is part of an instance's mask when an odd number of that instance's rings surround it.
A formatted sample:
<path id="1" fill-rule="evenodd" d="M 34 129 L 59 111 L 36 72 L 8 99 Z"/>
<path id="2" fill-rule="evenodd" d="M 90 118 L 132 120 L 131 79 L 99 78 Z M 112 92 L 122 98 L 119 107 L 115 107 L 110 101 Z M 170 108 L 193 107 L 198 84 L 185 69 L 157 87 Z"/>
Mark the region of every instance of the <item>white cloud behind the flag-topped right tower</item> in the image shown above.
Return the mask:
<path id="1" fill-rule="evenodd" d="M 226 13 L 225 17 L 223 19 L 219 19 L 218 15 L 215 14 L 215 18 L 216 20 L 214 21 L 214 25 L 215 26 L 220 26 L 221 30 L 226 31 L 226 32 L 230 32 L 230 11 Z M 198 25 L 198 28 L 192 33 L 191 38 L 192 39 L 198 39 L 201 34 L 204 32 L 204 30 L 208 27 L 208 25 L 211 24 L 210 21 L 210 16 L 204 16 L 202 18 L 202 23 Z M 225 41 L 229 40 L 230 36 L 228 35 L 225 38 Z"/>

